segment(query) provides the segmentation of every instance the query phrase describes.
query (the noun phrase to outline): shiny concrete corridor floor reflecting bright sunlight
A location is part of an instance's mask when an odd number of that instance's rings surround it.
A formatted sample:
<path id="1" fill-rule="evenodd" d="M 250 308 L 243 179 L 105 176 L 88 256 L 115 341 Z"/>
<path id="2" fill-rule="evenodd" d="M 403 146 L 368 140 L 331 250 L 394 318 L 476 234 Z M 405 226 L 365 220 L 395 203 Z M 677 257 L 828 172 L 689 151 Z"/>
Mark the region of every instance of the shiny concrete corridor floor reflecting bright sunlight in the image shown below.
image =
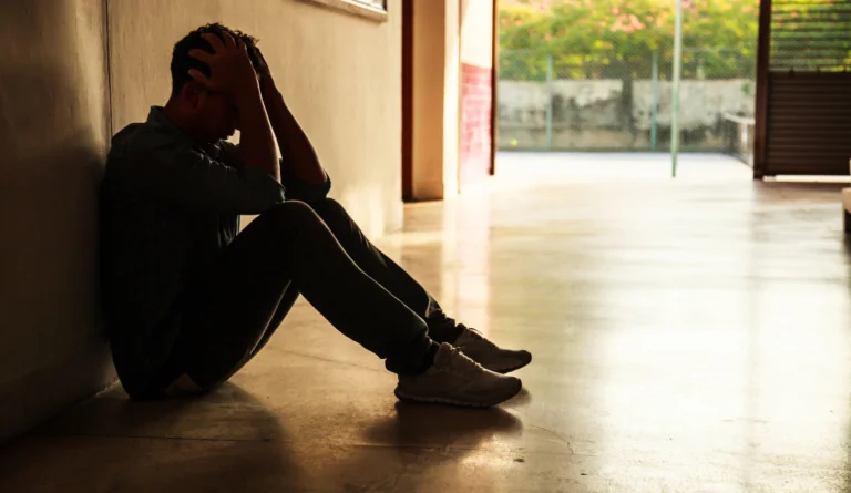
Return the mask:
<path id="1" fill-rule="evenodd" d="M 378 242 L 534 353 L 501 408 L 398 404 L 381 361 L 301 304 L 215 394 L 116 389 L 0 451 L 0 492 L 851 490 L 839 186 L 634 163 L 503 155 Z"/>

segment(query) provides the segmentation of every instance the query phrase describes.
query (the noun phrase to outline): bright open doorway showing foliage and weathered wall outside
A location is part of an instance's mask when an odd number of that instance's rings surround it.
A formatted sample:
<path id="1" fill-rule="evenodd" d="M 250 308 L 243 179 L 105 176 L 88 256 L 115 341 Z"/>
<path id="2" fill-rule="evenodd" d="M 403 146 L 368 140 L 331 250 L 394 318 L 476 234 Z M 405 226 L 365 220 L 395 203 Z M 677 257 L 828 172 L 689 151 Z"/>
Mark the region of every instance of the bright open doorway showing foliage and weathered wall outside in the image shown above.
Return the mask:
<path id="1" fill-rule="evenodd" d="M 674 2 L 498 0 L 498 163 L 546 152 L 584 173 L 670 176 Z M 684 175 L 752 176 L 758 30 L 759 0 L 683 0 Z"/>

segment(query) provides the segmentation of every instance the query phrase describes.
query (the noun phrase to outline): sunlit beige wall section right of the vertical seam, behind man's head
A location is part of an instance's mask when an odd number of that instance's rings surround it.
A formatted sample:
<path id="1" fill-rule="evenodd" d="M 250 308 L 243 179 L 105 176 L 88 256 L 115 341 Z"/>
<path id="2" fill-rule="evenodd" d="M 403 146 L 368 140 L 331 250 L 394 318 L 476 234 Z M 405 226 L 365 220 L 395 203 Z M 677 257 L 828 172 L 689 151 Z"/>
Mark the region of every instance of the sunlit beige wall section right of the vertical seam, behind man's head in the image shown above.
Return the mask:
<path id="1" fill-rule="evenodd" d="M 250 6 L 250 7 L 246 7 Z M 401 227 L 401 0 L 389 22 L 300 0 L 111 0 L 115 129 L 168 96 L 168 59 L 221 20 L 260 39 L 278 86 L 342 202 L 370 235 Z"/>

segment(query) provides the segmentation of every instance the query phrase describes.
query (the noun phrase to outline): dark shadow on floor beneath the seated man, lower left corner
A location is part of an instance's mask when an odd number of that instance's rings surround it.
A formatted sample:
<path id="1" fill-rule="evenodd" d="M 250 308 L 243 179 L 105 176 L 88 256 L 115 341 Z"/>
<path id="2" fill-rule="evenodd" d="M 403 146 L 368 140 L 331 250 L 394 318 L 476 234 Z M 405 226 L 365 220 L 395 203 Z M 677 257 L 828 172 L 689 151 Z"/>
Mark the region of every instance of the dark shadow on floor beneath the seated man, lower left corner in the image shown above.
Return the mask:
<path id="1" fill-rule="evenodd" d="M 0 491 L 267 491 L 276 479 L 299 483 L 289 443 L 277 417 L 234 384 L 152 402 L 116 388 L 0 450 Z"/>

